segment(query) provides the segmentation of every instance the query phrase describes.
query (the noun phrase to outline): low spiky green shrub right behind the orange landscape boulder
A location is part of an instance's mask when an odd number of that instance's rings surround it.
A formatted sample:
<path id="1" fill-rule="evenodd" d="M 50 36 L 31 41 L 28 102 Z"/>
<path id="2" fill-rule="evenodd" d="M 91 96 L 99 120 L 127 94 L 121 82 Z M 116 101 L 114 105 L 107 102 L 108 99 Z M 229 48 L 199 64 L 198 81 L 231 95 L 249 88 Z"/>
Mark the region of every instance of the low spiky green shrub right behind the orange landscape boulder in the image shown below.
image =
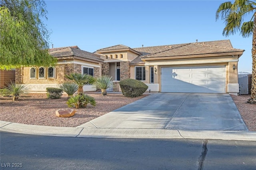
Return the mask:
<path id="1" fill-rule="evenodd" d="M 70 97 L 67 101 L 68 107 L 86 108 L 87 104 L 90 103 L 92 106 L 96 106 L 94 97 L 81 94 Z"/>

